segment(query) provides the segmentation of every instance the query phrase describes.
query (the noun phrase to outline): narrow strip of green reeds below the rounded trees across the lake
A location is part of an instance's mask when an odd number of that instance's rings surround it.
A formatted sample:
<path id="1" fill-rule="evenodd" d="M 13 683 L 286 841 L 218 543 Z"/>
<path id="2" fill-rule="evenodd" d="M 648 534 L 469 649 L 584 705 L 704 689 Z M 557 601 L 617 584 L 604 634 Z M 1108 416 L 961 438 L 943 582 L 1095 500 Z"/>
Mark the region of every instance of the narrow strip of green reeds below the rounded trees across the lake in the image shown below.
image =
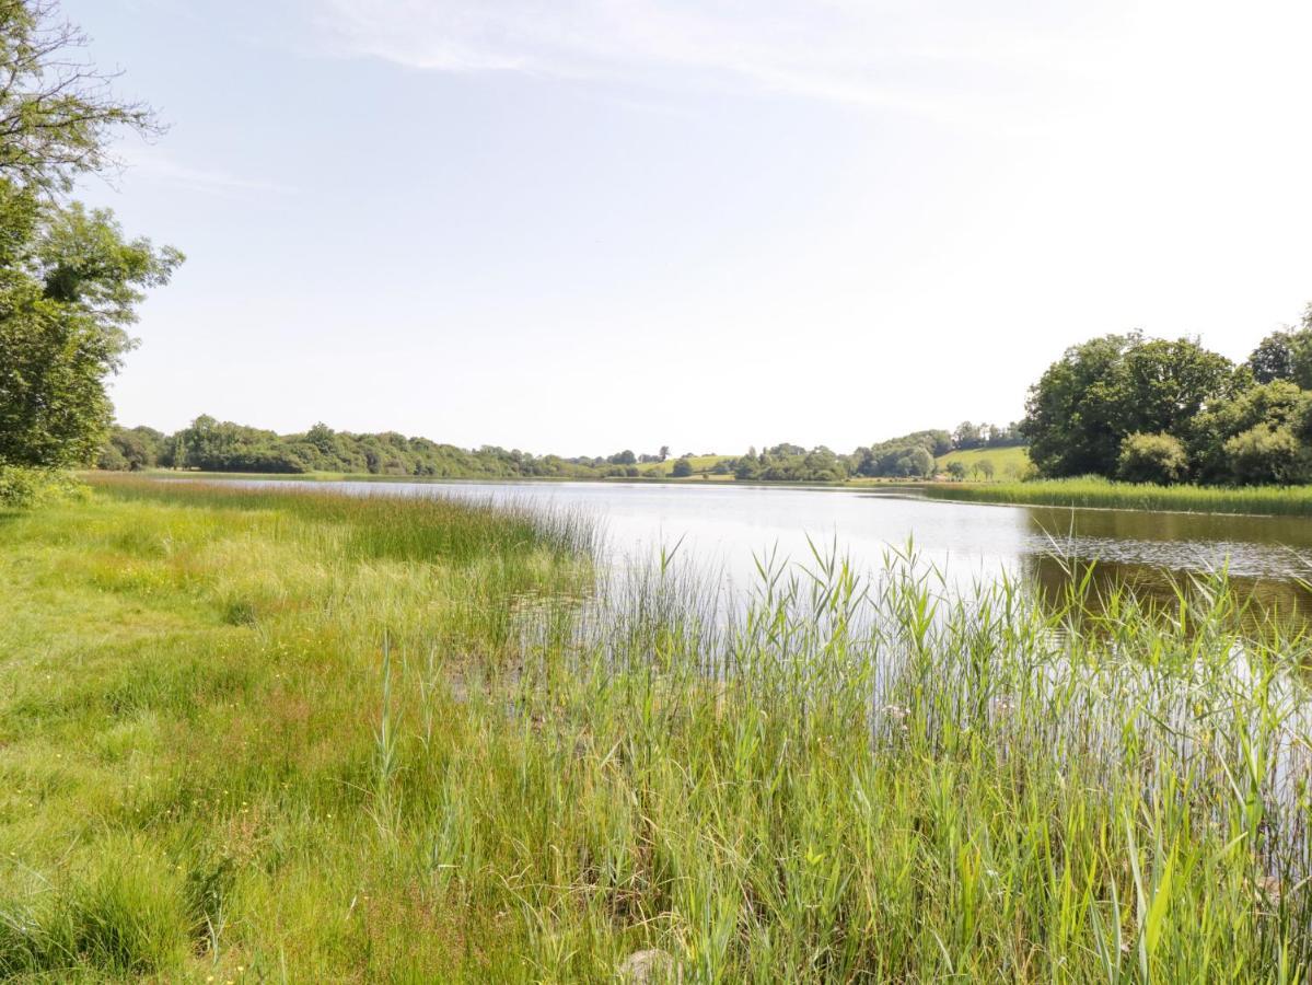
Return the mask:
<path id="1" fill-rule="evenodd" d="M 1307 485 L 1221 488 L 1113 483 L 1089 477 L 1031 483 L 926 483 L 918 488 L 933 498 L 968 502 L 1312 517 L 1312 487 Z"/>

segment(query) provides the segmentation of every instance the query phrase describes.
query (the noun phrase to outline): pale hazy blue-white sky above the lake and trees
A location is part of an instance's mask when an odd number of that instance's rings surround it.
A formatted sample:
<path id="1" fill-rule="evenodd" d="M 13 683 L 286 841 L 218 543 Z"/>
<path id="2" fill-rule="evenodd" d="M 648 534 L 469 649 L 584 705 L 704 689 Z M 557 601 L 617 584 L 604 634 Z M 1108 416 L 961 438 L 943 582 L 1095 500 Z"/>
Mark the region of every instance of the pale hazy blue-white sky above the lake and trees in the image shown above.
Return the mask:
<path id="1" fill-rule="evenodd" d="M 850 451 L 1312 300 L 1307 0 L 63 5 L 169 123 L 126 425 Z"/>

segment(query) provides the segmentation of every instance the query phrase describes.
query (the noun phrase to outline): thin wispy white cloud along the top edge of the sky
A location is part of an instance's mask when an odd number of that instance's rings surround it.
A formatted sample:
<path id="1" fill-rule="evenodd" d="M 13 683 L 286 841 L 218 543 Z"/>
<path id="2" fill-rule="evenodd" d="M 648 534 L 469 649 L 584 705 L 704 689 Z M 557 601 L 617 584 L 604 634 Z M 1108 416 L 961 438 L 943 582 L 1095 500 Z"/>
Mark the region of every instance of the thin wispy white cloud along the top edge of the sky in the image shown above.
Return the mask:
<path id="1" fill-rule="evenodd" d="M 1078 8 L 1029 4 L 1009 17 L 967 0 L 933 13 L 913 0 L 318 3 L 333 50 L 413 68 L 750 88 L 932 115 L 1042 97 L 1038 76 L 1051 84 L 1096 60 Z"/>

